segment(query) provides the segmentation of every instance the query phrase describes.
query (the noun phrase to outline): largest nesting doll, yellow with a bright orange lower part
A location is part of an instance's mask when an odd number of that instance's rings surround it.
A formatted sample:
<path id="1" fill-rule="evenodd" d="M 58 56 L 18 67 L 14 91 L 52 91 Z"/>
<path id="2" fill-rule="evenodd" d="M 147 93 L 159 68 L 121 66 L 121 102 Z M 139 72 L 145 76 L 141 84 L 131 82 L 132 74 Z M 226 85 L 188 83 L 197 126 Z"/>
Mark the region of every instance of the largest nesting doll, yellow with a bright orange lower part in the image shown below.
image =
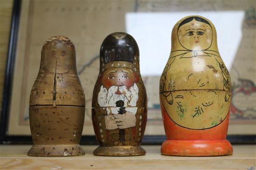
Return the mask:
<path id="1" fill-rule="evenodd" d="M 206 18 L 188 16 L 174 26 L 170 57 L 160 79 L 167 140 L 163 155 L 220 156 L 226 140 L 231 84 L 217 48 L 216 29 Z"/>

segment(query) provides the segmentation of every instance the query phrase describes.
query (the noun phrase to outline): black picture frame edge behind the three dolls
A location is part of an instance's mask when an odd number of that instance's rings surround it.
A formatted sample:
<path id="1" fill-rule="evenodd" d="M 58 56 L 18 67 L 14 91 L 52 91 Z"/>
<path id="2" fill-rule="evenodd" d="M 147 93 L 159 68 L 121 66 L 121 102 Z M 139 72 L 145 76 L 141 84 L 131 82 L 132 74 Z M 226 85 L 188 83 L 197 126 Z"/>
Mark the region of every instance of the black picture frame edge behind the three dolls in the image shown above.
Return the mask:
<path id="1" fill-rule="evenodd" d="M 16 56 L 16 45 L 20 21 L 21 0 L 13 1 L 13 12 L 11 21 L 11 30 L 9 38 L 9 47 L 7 54 L 2 111 L 0 120 L 0 143 L 1 144 L 33 144 L 31 136 L 8 135 L 7 127 L 9 122 L 10 102 L 12 97 L 13 69 Z M 166 139 L 164 135 L 146 135 L 142 139 L 142 145 L 161 145 Z M 228 135 L 227 139 L 231 144 L 256 144 L 256 135 Z M 81 145 L 97 145 L 94 135 L 81 137 Z"/>

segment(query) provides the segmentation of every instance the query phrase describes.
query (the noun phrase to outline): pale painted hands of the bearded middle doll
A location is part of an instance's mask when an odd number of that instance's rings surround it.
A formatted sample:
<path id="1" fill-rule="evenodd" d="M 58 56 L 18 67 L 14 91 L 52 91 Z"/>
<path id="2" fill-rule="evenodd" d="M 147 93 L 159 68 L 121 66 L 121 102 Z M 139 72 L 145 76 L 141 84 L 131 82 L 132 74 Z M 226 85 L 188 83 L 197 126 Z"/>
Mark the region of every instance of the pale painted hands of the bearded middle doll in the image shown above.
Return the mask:
<path id="1" fill-rule="evenodd" d="M 136 124 L 136 117 L 134 113 L 126 112 L 124 114 L 114 114 L 114 117 L 119 129 L 134 127 Z"/>

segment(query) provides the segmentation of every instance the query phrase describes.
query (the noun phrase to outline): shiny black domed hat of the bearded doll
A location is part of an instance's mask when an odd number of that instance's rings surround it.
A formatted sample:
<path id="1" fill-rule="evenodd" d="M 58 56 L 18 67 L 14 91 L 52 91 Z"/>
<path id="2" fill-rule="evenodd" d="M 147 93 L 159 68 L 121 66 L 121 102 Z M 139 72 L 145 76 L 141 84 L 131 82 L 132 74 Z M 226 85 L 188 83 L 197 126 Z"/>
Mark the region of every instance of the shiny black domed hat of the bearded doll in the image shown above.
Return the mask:
<path id="1" fill-rule="evenodd" d="M 135 56 L 139 57 L 139 48 L 135 39 L 128 33 L 114 32 L 102 42 L 100 56 L 105 64 L 115 61 L 134 63 Z"/>

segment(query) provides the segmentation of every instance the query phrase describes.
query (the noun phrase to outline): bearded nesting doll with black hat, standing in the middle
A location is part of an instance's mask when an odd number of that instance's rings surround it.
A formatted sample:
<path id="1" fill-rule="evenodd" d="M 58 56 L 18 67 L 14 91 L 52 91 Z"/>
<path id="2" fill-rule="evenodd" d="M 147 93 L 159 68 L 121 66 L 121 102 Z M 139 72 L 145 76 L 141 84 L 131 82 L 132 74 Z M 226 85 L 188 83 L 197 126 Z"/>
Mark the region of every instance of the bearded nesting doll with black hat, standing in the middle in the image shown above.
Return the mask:
<path id="1" fill-rule="evenodd" d="M 135 39 L 124 32 L 108 35 L 101 44 L 100 64 L 92 100 L 94 132 L 100 144 L 94 155 L 144 155 L 140 145 L 147 95 Z"/>

